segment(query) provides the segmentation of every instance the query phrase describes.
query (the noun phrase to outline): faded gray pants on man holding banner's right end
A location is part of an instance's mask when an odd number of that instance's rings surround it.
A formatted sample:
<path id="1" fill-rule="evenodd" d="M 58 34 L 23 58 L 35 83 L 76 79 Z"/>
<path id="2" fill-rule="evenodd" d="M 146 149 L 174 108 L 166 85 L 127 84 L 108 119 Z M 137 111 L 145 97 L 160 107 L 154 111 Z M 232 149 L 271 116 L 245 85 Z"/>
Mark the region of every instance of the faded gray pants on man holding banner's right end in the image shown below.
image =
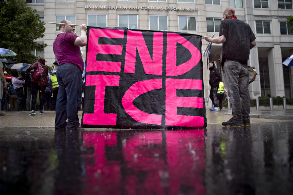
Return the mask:
<path id="1" fill-rule="evenodd" d="M 227 60 L 224 62 L 224 76 L 225 86 L 232 104 L 233 119 L 249 120 L 250 95 L 248 90 L 249 74 L 247 65 Z"/>

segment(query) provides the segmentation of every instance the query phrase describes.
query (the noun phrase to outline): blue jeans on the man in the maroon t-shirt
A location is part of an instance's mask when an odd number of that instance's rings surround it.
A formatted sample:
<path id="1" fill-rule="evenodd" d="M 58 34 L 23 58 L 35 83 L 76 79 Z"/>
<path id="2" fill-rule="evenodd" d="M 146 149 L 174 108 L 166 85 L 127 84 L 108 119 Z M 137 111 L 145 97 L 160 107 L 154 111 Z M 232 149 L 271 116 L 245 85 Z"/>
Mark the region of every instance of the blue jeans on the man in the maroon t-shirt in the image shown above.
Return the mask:
<path id="1" fill-rule="evenodd" d="M 65 63 L 59 66 L 56 76 L 59 90 L 56 101 L 55 129 L 74 129 L 79 126 L 78 109 L 82 93 L 81 71 L 77 66 Z"/>

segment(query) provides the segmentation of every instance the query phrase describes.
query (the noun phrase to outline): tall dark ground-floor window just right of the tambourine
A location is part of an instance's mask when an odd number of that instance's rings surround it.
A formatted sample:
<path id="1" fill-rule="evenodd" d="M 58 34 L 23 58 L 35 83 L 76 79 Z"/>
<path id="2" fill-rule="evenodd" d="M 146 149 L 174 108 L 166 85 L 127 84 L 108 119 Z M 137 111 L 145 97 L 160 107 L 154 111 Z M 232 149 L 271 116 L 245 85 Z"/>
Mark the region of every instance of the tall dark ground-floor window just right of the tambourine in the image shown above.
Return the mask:
<path id="1" fill-rule="evenodd" d="M 269 85 L 269 63 L 267 58 L 259 58 L 259 77 L 262 96 L 266 96 L 267 91 L 271 93 Z"/>

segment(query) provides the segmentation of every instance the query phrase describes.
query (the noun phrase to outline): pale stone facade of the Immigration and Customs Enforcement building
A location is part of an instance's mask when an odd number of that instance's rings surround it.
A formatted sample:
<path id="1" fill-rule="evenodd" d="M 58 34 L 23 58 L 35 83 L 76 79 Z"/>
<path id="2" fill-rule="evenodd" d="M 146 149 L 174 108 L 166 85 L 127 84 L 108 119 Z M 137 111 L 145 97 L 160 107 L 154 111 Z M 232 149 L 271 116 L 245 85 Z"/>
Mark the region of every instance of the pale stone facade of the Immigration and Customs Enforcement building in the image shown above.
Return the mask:
<path id="1" fill-rule="evenodd" d="M 149 2 L 148 0 L 137 1 L 89 1 L 89 0 L 75 0 L 75 1 L 58 1 L 44 0 L 44 4 L 28 3 L 33 9 L 37 9 L 38 14 L 44 16 L 46 22 L 55 22 L 56 15 L 75 15 L 75 23 L 87 24 L 87 14 L 106 14 L 107 27 L 118 27 L 119 14 L 138 15 L 139 29 L 149 29 L 149 15 L 166 15 L 168 17 L 168 30 L 179 31 L 178 16 L 196 16 L 196 31 L 182 31 L 190 34 L 207 35 L 206 18 L 222 18 L 222 13 L 227 6 L 230 6 L 230 0 L 222 0 L 221 5 L 206 5 L 204 0 L 195 0 L 195 3 L 180 3 L 177 0 L 166 0 L 166 2 Z M 118 6 L 156 6 L 156 7 L 188 7 L 197 8 L 197 11 L 170 11 L 170 10 L 145 10 L 145 9 L 85 9 L 85 5 L 118 5 Z M 249 65 L 254 66 L 259 73 L 259 54 L 257 48 L 263 48 L 267 51 L 269 59 L 270 84 L 273 96 L 284 95 L 284 81 L 282 71 L 282 58 L 287 58 L 289 51 L 293 49 L 293 35 L 280 35 L 280 21 L 286 21 L 289 15 L 292 15 L 292 9 L 278 9 L 277 1 L 269 0 L 268 9 L 254 8 L 253 0 L 243 0 L 243 9 L 235 9 L 235 15 L 251 26 L 252 31 L 256 36 L 256 48 L 251 50 Z M 255 20 L 269 21 L 271 34 L 259 35 L 256 34 Z M 55 37 L 59 32 L 55 31 L 55 24 L 45 24 L 46 31 L 44 38 L 38 39 L 38 42 L 44 42 L 47 47 L 44 49 L 44 58 L 48 65 L 55 62 L 52 45 Z M 79 27 L 76 28 L 76 33 L 80 35 Z M 209 33 L 213 34 L 213 33 Z M 215 37 L 219 36 L 215 32 Z M 202 51 L 206 49 L 207 41 L 202 41 Z M 211 55 L 222 56 L 222 44 L 213 44 Z M 82 47 L 83 59 L 85 61 L 86 47 Z M 292 52 L 291 52 L 292 53 Z M 210 86 L 208 84 L 209 71 L 206 71 L 206 56 L 202 56 L 204 64 L 204 93 L 205 98 L 209 96 Z M 219 67 L 219 66 L 218 66 Z M 291 69 L 291 78 L 293 78 L 293 70 Z M 293 80 L 292 80 L 293 83 Z M 292 87 L 292 86 L 291 86 Z M 292 93 L 293 88 L 291 89 Z M 260 77 L 249 85 L 251 98 L 260 96 Z M 283 91 L 283 92 L 282 92 Z"/>

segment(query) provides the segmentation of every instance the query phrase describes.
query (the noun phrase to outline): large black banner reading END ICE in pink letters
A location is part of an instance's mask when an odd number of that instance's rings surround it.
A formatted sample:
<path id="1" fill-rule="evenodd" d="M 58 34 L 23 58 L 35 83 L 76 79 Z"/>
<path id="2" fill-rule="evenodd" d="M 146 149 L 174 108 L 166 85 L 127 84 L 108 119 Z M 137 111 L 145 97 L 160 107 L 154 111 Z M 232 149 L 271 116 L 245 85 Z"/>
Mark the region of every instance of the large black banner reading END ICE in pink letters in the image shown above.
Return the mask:
<path id="1" fill-rule="evenodd" d="M 88 27 L 83 127 L 206 127 L 201 36 Z"/>

